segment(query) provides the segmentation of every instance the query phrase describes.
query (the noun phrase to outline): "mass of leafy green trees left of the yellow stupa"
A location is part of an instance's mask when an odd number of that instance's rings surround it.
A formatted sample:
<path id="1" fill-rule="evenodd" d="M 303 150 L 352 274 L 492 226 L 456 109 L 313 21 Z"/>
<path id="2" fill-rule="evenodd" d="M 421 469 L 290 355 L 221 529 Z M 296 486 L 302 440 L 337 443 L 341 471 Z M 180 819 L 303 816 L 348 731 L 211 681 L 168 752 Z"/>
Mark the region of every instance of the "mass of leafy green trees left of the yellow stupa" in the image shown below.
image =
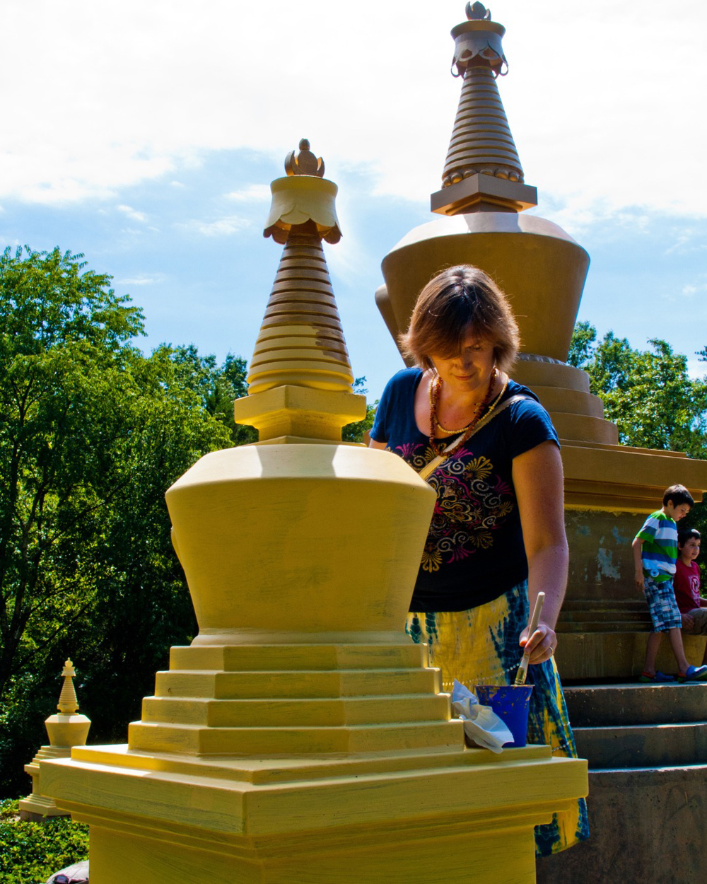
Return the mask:
<path id="1" fill-rule="evenodd" d="M 0 767 L 42 743 L 66 656 L 93 738 L 125 735 L 170 644 L 194 635 L 164 491 L 232 444 L 178 352 L 82 255 L 0 258 Z M 234 360 L 232 360 L 234 362 Z M 233 379 L 237 374 L 229 363 Z M 232 380 L 229 377 L 229 384 Z M 220 413 L 219 413 L 220 414 Z M 2 788 L 2 785 L 0 785 Z M 19 787 L 22 788 L 22 787 Z"/>

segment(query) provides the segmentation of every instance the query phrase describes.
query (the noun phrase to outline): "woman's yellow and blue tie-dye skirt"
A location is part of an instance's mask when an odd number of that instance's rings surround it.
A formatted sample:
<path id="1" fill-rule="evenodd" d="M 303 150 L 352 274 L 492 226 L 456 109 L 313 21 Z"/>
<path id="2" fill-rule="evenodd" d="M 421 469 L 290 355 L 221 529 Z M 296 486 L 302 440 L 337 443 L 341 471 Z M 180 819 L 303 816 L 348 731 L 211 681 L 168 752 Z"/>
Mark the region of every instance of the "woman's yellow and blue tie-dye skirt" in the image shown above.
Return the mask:
<path id="1" fill-rule="evenodd" d="M 518 644 L 528 623 L 528 583 L 468 611 L 409 613 L 406 631 L 430 648 L 430 665 L 442 670 L 443 690 L 452 693 L 456 678 L 470 690 L 475 684 L 513 684 L 522 650 Z M 534 685 L 528 713 L 528 743 L 545 743 L 553 754 L 577 758 L 565 697 L 554 659 L 528 667 Z M 536 826 L 536 855 L 550 856 L 589 837 L 587 804 L 553 814 Z"/>

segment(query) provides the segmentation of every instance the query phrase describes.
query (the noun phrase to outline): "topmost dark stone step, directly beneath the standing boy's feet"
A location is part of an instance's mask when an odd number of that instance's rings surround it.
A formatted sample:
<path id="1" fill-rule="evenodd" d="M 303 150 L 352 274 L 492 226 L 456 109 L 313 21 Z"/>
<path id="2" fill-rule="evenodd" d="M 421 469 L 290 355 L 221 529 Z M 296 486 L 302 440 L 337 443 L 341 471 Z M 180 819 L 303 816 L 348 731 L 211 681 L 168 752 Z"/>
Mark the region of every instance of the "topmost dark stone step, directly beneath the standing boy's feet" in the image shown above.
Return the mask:
<path id="1" fill-rule="evenodd" d="M 707 683 L 566 687 L 573 728 L 663 725 L 707 720 Z"/>

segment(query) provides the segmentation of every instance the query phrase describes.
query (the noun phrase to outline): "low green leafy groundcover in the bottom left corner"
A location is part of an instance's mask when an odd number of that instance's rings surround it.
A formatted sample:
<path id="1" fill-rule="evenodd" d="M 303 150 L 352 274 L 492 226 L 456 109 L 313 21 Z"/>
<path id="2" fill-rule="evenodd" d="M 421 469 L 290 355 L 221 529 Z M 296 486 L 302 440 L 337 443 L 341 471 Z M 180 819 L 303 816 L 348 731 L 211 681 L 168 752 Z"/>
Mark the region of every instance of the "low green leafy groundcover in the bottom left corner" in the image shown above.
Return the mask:
<path id="1" fill-rule="evenodd" d="M 0 801 L 0 880 L 43 884 L 49 875 L 88 857 L 88 827 L 69 817 L 46 823 L 16 819 L 18 802 Z"/>

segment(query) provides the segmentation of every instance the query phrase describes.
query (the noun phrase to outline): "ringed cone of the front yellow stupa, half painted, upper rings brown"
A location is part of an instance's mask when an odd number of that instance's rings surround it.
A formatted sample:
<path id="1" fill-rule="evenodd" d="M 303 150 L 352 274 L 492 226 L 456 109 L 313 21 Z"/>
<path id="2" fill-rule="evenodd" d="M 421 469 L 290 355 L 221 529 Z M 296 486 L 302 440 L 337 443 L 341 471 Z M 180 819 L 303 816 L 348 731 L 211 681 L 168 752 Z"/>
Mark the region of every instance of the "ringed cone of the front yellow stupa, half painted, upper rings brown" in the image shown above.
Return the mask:
<path id="1" fill-rule="evenodd" d="M 249 392 L 283 384 L 351 392 L 353 373 L 322 242 L 291 232 L 247 378 Z"/>

